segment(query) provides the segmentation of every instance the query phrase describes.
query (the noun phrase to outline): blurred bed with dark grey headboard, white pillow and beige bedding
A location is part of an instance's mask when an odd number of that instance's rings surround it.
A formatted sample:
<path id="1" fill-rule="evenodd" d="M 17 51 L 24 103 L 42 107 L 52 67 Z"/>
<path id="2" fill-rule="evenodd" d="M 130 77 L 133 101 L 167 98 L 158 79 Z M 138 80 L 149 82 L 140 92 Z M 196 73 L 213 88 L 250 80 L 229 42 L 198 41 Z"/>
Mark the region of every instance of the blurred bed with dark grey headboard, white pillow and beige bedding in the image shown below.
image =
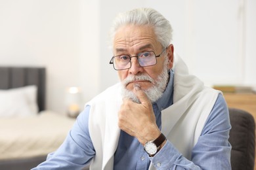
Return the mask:
<path id="1" fill-rule="evenodd" d="M 45 110 L 44 67 L 0 67 L 0 169 L 31 169 L 75 122 Z"/>

